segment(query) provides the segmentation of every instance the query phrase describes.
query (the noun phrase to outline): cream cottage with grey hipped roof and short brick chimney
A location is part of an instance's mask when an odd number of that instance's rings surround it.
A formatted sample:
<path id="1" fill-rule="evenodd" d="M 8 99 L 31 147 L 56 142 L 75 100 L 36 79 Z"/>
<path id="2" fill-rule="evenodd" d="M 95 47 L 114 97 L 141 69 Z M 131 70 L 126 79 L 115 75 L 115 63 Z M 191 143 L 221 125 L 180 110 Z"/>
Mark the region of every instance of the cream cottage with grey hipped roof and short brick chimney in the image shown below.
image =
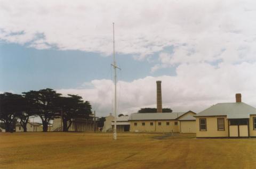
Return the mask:
<path id="1" fill-rule="evenodd" d="M 241 102 L 218 103 L 195 115 L 197 138 L 256 137 L 256 108 Z"/>

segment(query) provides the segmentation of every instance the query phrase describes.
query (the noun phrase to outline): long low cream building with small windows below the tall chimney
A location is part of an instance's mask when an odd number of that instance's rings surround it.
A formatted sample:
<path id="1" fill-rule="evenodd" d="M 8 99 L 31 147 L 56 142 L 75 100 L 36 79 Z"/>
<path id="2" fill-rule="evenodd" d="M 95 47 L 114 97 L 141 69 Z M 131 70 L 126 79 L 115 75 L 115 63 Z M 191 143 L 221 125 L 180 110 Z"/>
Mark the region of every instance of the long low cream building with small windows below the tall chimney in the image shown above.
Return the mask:
<path id="1" fill-rule="evenodd" d="M 131 132 L 195 132 L 196 113 L 133 113 L 129 117 Z M 180 125 L 181 124 L 181 125 Z M 183 126 L 182 126 L 183 125 Z"/>

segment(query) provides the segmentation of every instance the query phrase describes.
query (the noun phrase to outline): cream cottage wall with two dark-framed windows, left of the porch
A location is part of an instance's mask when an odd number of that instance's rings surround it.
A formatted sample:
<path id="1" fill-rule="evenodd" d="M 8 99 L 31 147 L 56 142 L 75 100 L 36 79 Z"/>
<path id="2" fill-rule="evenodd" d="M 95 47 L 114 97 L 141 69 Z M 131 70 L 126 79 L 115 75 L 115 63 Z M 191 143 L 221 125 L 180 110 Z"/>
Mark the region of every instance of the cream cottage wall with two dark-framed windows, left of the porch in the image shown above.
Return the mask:
<path id="1" fill-rule="evenodd" d="M 224 118 L 225 130 L 218 131 L 217 119 Z M 200 131 L 199 119 L 206 119 L 206 131 Z M 228 137 L 228 120 L 226 116 L 196 117 L 196 137 Z"/>

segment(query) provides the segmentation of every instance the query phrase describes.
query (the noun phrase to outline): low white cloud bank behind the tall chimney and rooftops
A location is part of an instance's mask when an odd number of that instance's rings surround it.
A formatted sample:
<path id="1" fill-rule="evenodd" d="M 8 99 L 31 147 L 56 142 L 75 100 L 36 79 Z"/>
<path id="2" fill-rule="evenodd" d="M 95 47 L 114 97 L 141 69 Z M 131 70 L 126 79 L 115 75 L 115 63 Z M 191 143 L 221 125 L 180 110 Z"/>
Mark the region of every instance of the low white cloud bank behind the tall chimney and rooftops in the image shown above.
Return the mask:
<path id="1" fill-rule="evenodd" d="M 256 63 L 181 64 L 177 76 L 145 77 L 118 82 L 118 112 L 130 114 L 142 107 L 156 107 L 156 80 L 162 80 L 163 107 L 173 111 L 202 111 L 221 102 L 235 102 L 242 93 L 243 102 L 256 106 Z M 99 115 L 113 112 L 113 82 L 93 80 L 90 88 L 59 89 L 62 94 L 77 94 L 90 100 Z M 112 98 L 112 100 L 111 100 Z"/>

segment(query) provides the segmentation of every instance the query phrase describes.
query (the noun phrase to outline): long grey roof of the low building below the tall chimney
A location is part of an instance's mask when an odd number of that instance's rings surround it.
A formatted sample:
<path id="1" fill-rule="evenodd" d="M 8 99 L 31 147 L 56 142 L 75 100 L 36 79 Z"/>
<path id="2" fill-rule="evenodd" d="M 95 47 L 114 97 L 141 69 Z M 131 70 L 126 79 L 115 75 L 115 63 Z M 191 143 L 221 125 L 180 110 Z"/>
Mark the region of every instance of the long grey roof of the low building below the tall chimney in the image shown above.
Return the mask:
<path id="1" fill-rule="evenodd" d="M 133 113 L 129 116 L 129 120 L 175 120 L 186 112 L 172 113 Z"/>

